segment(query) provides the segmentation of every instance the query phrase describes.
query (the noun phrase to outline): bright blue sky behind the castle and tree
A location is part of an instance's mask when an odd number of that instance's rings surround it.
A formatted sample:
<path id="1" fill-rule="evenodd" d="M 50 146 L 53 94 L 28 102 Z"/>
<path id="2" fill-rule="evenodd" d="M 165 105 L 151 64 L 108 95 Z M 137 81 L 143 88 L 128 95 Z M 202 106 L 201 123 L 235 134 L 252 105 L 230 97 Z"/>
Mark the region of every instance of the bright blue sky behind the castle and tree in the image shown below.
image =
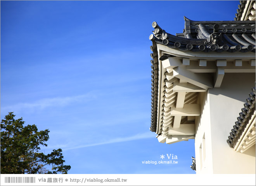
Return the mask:
<path id="1" fill-rule="evenodd" d="M 234 20 L 239 1 L 1 1 L 1 119 L 49 129 L 69 174 L 194 174 L 194 140 L 149 131 L 149 35 Z M 142 164 L 177 155 L 178 164 Z M 167 157 L 166 157 L 167 158 Z"/>

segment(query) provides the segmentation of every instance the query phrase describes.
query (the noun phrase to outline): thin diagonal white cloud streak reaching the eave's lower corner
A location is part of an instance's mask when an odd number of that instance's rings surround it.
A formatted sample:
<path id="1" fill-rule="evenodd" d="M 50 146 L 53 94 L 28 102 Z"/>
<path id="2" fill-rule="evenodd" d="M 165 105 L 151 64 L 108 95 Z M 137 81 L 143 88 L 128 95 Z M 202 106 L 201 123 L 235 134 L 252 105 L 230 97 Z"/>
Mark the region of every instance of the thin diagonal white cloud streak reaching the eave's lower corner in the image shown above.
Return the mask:
<path id="1" fill-rule="evenodd" d="M 152 138 L 152 137 L 154 138 L 154 134 L 152 134 L 151 132 L 147 132 L 147 133 L 136 134 L 134 136 L 128 136 L 128 137 L 124 137 L 124 138 L 114 138 L 114 139 L 107 140 L 107 141 L 104 141 L 101 143 L 92 143 L 92 144 L 87 144 L 87 145 L 73 146 L 70 148 L 62 149 L 62 150 L 73 150 L 73 149 L 85 148 L 85 147 L 89 147 L 89 146 L 106 145 L 106 144 L 110 144 L 110 143 L 141 140 L 141 139 Z"/>

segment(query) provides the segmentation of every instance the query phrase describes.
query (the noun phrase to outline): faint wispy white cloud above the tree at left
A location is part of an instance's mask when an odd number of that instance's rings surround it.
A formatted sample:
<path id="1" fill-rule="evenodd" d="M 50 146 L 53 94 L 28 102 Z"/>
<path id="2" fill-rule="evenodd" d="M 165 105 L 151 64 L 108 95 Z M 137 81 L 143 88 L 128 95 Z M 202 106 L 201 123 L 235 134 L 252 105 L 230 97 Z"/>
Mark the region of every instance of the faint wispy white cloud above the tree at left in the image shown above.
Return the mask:
<path id="1" fill-rule="evenodd" d="M 2 110 L 19 111 L 22 109 L 44 109 L 47 107 L 63 107 L 74 102 L 88 101 L 94 97 L 95 95 L 88 93 L 78 96 L 45 98 L 31 103 L 17 103 L 16 105 L 2 107 Z"/>

